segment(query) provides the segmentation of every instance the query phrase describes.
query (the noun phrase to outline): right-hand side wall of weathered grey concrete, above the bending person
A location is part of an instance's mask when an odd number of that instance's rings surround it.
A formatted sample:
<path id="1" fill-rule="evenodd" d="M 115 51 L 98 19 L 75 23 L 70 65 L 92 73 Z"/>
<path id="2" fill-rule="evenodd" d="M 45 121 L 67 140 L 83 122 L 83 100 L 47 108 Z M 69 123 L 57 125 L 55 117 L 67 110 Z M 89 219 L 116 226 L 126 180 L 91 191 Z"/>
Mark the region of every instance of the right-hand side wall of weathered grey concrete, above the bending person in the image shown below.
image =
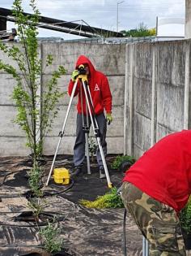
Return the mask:
<path id="1" fill-rule="evenodd" d="M 185 40 L 126 46 L 125 154 L 138 158 L 160 138 L 191 128 L 190 49 Z"/>

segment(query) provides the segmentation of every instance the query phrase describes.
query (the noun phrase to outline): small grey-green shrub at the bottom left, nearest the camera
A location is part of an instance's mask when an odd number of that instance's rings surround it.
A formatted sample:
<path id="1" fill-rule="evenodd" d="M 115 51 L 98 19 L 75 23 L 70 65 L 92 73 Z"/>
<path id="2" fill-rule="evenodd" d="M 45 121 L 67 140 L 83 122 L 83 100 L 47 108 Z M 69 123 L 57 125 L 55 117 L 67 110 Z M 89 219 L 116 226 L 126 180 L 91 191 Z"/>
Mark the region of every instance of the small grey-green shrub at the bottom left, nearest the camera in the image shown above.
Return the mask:
<path id="1" fill-rule="evenodd" d="M 58 227 L 58 224 L 55 223 L 55 219 L 53 223 L 48 221 L 48 225 L 40 228 L 40 237 L 43 241 L 45 250 L 48 253 L 56 253 L 61 251 L 63 240 L 60 237 L 62 229 Z"/>

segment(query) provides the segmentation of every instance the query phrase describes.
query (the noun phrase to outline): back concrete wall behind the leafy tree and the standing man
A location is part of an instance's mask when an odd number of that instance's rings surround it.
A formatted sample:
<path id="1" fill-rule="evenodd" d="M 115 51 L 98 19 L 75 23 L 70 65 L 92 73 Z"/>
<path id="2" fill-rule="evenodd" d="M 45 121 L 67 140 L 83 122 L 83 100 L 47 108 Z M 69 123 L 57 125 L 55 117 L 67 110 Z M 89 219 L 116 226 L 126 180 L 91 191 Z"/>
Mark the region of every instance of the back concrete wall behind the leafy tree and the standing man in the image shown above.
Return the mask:
<path id="1" fill-rule="evenodd" d="M 11 44 L 10 44 L 11 45 Z M 19 46 L 19 44 L 17 44 Z M 108 153 L 123 152 L 123 104 L 124 104 L 124 83 L 125 83 L 125 46 L 124 45 L 97 45 L 84 43 L 42 43 L 39 47 L 40 57 L 43 60 L 41 77 L 41 93 L 45 90 L 45 85 L 50 79 L 53 71 L 59 65 L 66 68 L 66 75 L 58 80 L 58 86 L 62 92 L 67 91 L 70 81 L 70 74 L 74 70 L 76 60 L 80 54 L 85 54 L 95 65 L 97 70 L 104 72 L 108 76 L 108 81 L 112 92 L 112 115 L 113 122 L 108 127 Z M 45 59 L 48 54 L 53 54 L 53 65 L 45 67 Z M 7 58 L 6 54 L 0 52 L 0 58 L 5 63 L 11 63 L 17 70 L 17 64 Z M 11 93 L 15 85 L 15 80 L 4 72 L 0 72 L 0 155 L 28 155 L 29 150 L 25 146 L 25 134 L 18 125 L 12 121 L 17 113 L 15 103 L 11 99 Z M 45 138 L 44 154 L 54 154 L 58 141 L 58 132 L 62 130 L 62 124 L 66 117 L 66 109 L 70 97 L 66 94 L 58 103 L 61 111 L 53 124 L 53 131 Z M 62 146 L 60 153 L 73 154 L 76 102 L 74 98 L 70 109 L 70 115 L 66 127 L 66 146 Z M 116 144 L 115 141 L 120 141 Z M 6 143 L 7 141 L 7 143 Z"/>

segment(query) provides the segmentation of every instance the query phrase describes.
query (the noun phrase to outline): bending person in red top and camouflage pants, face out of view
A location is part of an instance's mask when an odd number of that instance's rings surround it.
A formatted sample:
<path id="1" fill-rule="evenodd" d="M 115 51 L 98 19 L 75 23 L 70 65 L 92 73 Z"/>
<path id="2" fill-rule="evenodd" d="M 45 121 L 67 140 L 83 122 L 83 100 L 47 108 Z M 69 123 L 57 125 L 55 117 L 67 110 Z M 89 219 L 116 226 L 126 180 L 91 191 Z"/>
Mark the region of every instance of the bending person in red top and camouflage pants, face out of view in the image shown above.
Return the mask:
<path id="1" fill-rule="evenodd" d="M 159 140 L 125 173 L 121 197 L 150 256 L 186 255 L 178 217 L 191 193 L 191 130 Z"/>

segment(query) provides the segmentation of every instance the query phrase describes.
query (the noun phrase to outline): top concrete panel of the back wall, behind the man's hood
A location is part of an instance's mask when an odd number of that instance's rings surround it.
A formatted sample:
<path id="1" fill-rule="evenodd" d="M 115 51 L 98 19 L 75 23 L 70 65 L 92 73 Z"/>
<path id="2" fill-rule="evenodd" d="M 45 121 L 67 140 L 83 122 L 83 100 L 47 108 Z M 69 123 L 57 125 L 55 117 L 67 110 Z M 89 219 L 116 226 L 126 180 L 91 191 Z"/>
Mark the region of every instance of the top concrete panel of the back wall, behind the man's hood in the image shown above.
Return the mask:
<path id="1" fill-rule="evenodd" d="M 101 47 L 100 47 L 101 46 Z M 124 74 L 125 45 L 98 45 L 84 43 L 45 43 L 42 46 L 43 59 L 50 53 L 55 55 L 53 65 L 45 68 L 45 73 L 52 73 L 58 65 L 66 67 L 70 74 L 79 55 L 86 55 L 97 70 L 106 75 Z M 44 62 L 45 66 L 45 62 Z"/>

